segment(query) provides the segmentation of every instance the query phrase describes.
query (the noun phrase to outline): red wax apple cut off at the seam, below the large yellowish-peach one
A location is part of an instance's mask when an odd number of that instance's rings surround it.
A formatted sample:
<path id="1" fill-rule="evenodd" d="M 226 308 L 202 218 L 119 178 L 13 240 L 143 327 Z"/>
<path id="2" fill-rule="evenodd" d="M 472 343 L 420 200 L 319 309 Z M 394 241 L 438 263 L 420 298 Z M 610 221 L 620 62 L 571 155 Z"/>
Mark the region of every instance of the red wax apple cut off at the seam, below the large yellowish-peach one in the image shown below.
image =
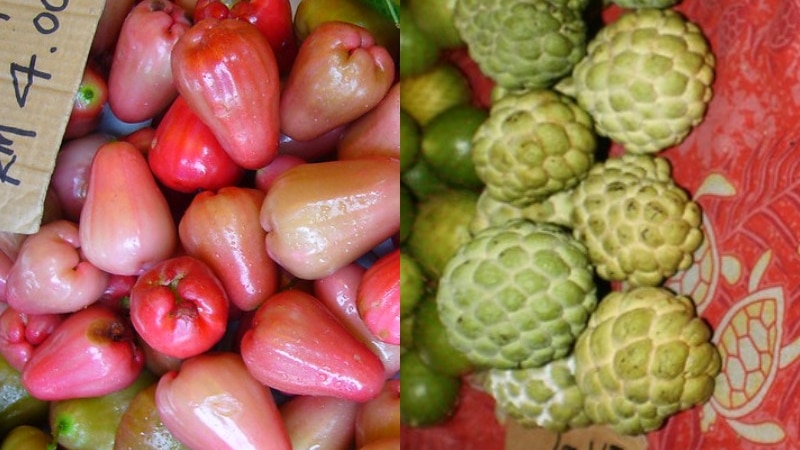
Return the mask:
<path id="1" fill-rule="evenodd" d="M 367 269 L 356 294 L 358 314 L 367 328 L 389 344 L 400 344 L 400 249 Z"/>

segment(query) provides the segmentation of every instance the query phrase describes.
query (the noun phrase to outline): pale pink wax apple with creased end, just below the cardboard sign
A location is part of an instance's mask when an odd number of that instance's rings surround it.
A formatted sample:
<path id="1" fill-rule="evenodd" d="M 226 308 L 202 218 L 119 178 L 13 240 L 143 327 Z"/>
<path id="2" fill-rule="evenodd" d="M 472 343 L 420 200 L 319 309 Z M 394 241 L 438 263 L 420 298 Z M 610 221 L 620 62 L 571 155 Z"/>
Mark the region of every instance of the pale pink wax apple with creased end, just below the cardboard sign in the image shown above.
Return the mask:
<path id="1" fill-rule="evenodd" d="M 26 314 L 60 314 L 94 303 L 109 275 L 81 254 L 78 225 L 56 220 L 25 240 L 6 278 L 6 301 Z"/>

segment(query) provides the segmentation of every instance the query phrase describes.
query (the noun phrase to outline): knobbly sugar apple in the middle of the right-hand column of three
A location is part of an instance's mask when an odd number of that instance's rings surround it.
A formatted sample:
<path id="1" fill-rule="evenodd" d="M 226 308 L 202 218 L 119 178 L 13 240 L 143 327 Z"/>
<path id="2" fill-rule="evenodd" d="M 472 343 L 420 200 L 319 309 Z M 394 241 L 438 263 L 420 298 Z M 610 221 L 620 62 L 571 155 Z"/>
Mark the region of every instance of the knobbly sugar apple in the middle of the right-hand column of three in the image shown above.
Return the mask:
<path id="1" fill-rule="evenodd" d="M 624 154 L 597 163 L 571 192 L 572 228 L 597 274 L 655 286 L 694 261 L 702 212 L 666 159 Z"/>

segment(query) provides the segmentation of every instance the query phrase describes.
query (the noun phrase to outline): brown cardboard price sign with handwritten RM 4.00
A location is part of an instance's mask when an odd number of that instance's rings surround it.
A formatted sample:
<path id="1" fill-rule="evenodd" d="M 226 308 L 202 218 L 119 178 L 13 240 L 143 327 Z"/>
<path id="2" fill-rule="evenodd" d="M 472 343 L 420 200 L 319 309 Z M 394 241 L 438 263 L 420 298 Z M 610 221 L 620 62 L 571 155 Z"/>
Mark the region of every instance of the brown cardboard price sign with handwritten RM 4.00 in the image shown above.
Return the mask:
<path id="1" fill-rule="evenodd" d="M 105 0 L 0 0 L 0 230 L 38 231 Z"/>

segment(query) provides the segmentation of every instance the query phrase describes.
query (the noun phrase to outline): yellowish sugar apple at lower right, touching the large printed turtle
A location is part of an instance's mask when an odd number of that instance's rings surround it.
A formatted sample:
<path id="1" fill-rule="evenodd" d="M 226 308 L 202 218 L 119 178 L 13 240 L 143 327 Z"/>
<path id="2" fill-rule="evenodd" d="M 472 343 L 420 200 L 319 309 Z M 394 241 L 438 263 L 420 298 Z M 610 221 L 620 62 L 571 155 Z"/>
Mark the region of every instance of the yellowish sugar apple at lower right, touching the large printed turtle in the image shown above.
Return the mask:
<path id="1" fill-rule="evenodd" d="M 642 434 L 706 402 L 721 365 L 711 336 L 688 297 L 661 287 L 608 294 L 574 349 L 586 414 Z"/>

